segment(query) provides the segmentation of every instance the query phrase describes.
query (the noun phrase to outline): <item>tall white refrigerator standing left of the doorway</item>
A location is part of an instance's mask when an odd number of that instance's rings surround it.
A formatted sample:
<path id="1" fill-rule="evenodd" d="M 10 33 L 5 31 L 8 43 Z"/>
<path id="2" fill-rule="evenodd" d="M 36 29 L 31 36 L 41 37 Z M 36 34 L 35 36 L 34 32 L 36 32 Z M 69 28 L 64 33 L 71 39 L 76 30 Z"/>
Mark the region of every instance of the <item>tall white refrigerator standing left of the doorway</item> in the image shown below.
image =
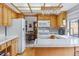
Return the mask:
<path id="1" fill-rule="evenodd" d="M 12 25 L 7 27 L 7 36 L 18 35 L 18 52 L 22 53 L 26 48 L 25 20 L 23 18 L 12 19 Z"/>

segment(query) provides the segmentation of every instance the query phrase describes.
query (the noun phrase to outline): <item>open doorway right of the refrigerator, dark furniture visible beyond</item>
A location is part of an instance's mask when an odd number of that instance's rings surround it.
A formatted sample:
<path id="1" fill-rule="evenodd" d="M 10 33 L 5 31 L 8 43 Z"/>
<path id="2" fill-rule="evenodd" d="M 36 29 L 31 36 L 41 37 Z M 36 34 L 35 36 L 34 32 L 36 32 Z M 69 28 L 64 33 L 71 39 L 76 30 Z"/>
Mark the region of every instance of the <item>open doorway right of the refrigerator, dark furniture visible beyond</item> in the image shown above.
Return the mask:
<path id="1" fill-rule="evenodd" d="M 37 17 L 28 16 L 26 19 L 26 46 L 32 47 L 37 38 Z"/>

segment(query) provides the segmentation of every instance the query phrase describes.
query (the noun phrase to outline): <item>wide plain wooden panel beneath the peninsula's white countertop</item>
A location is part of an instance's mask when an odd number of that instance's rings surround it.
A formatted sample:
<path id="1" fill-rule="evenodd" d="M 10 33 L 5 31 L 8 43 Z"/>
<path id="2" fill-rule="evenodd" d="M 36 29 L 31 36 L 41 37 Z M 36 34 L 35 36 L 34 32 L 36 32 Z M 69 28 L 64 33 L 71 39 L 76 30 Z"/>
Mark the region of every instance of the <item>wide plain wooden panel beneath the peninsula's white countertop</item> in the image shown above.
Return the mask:
<path id="1" fill-rule="evenodd" d="M 73 47 L 35 47 L 35 56 L 74 56 Z"/>

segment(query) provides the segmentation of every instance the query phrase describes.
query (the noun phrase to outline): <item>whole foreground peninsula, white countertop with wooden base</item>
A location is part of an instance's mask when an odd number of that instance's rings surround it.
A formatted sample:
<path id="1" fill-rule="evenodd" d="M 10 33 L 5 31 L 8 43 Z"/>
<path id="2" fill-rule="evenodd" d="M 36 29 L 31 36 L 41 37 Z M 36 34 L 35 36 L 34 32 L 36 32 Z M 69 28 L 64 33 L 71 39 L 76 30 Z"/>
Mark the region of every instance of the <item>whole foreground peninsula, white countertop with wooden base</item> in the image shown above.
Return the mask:
<path id="1" fill-rule="evenodd" d="M 64 36 L 66 37 L 66 36 Z M 67 38 L 67 37 L 66 37 Z M 35 56 L 77 56 L 79 55 L 79 38 L 36 39 Z"/>

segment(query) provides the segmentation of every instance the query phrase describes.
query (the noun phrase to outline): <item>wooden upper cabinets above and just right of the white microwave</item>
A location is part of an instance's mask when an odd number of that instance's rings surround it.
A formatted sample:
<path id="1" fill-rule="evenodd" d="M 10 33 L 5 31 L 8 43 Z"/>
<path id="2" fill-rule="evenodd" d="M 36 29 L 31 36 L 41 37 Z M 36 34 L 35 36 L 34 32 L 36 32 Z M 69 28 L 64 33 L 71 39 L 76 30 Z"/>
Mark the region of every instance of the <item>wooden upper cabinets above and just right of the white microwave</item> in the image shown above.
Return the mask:
<path id="1" fill-rule="evenodd" d="M 51 28 L 57 28 L 57 15 L 38 15 L 38 20 L 49 20 Z"/>

